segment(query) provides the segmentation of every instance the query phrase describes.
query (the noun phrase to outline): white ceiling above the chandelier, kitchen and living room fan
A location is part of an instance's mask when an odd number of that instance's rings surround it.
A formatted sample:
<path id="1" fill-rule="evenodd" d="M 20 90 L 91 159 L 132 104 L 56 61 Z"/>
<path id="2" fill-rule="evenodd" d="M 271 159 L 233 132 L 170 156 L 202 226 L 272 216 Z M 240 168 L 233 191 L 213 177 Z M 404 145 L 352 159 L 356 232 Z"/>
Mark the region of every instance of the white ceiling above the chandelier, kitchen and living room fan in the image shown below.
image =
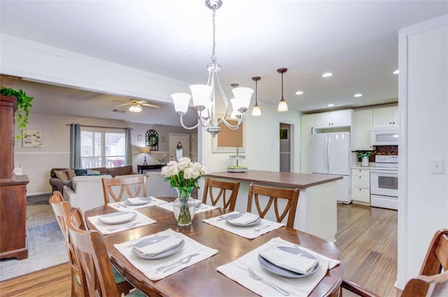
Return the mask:
<path id="1" fill-rule="evenodd" d="M 0 30 L 5 34 L 189 83 L 207 83 L 211 11 L 202 0 L 1 0 L 0 5 Z M 396 102 L 398 76 L 392 72 L 398 69 L 398 30 L 447 13 L 447 0 L 223 0 L 216 11 L 221 84 L 230 97 L 231 83 L 255 88 L 251 77 L 261 76 L 258 101 L 276 105 L 281 98 L 276 69 L 286 67 L 283 93 L 290 109 L 311 112 L 328 109 L 330 103 L 342 109 Z M 327 71 L 334 75 L 321 77 Z M 42 103 L 34 105 L 76 115 L 62 102 L 48 104 L 61 98 L 50 94 L 60 87 L 22 83 L 40 88 L 33 95 Z M 304 94 L 295 95 L 297 90 Z M 363 97 L 353 97 L 357 92 Z M 112 110 L 120 102 L 113 100 L 129 99 L 81 90 L 62 97 L 92 103 L 89 112 L 104 118 L 117 118 L 119 113 Z M 177 125 L 173 107 L 161 106 L 166 107 L 158 109 L 159 116 L 166 109 Z M 137 114 L 133 121 L 144 121 L 154 110 L 144 108 L 147 114 L 135 120 Z M 129 111 L 121 114 L 132 120 Z"/>

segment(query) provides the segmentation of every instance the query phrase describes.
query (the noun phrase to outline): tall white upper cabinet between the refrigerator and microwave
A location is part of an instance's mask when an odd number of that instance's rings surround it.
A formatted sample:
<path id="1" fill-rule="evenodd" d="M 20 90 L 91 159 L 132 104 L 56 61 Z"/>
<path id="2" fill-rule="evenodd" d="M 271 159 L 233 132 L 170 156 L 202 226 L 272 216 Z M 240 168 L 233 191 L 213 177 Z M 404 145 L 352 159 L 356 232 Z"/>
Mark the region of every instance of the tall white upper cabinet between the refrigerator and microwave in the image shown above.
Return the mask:
<path id="1" fill-rule="evenodd" d="M 351 127 L 351 150 L 372 151 L 372 109 L 360 109 L 354 112 Z"/>

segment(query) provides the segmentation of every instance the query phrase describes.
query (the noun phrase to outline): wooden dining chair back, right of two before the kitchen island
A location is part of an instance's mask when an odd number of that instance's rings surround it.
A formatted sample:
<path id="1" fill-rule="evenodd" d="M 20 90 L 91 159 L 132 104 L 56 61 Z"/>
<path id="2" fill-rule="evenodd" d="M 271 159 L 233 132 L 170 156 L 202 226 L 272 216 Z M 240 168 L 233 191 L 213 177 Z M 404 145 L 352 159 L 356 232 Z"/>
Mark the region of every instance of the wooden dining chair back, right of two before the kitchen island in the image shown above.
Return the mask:
<path id="1" fill-rule="evenodd" d="M 274 205 L 274 212 L 277 222 L 283 221 L 288 215 L 286 226 L 294 228 L 295 209 L 299 201 L 300 188 L 274 188 L 270 186 L 260 186 L 254 183 L 249 185 L 247 198 L 247 212 L 252 211 L 252 201 L 255 200 L 255 207 L 261 218 L 264 218 L 269 209 Z M 260 196 L 269 197 L 267 202 L 261 202 Z M 264 199 L 263 199 L 264 200 Z M 283 212 L 280 213 L 280 201 L 286 201 Z M 262 205 L 265 205 L 262 207 Z"/>

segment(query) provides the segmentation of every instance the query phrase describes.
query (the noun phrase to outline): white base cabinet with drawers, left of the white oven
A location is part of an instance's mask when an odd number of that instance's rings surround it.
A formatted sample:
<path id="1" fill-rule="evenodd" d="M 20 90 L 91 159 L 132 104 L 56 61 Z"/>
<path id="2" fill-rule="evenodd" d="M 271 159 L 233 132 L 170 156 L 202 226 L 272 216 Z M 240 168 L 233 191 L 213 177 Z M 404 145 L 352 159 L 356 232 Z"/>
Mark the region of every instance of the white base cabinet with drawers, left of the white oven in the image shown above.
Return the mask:
<path id="1" fill-rule="evenodd" d="M 370 169 L 351 170 L 351 202 L 370 205 Z"/>

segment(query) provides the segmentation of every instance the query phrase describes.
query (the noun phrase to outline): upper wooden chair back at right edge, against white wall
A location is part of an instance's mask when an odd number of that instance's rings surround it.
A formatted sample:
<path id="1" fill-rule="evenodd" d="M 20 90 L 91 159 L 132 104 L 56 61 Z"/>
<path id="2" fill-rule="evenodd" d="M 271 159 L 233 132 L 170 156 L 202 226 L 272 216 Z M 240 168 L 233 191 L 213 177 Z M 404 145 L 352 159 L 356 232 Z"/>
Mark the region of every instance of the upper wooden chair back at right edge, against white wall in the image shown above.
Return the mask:
<path id="1" fill-rule="evenodd" d="M 448 229 L 437 230 L 433 236 L 420 275 L 437 275 L 448 270 Z"/>

